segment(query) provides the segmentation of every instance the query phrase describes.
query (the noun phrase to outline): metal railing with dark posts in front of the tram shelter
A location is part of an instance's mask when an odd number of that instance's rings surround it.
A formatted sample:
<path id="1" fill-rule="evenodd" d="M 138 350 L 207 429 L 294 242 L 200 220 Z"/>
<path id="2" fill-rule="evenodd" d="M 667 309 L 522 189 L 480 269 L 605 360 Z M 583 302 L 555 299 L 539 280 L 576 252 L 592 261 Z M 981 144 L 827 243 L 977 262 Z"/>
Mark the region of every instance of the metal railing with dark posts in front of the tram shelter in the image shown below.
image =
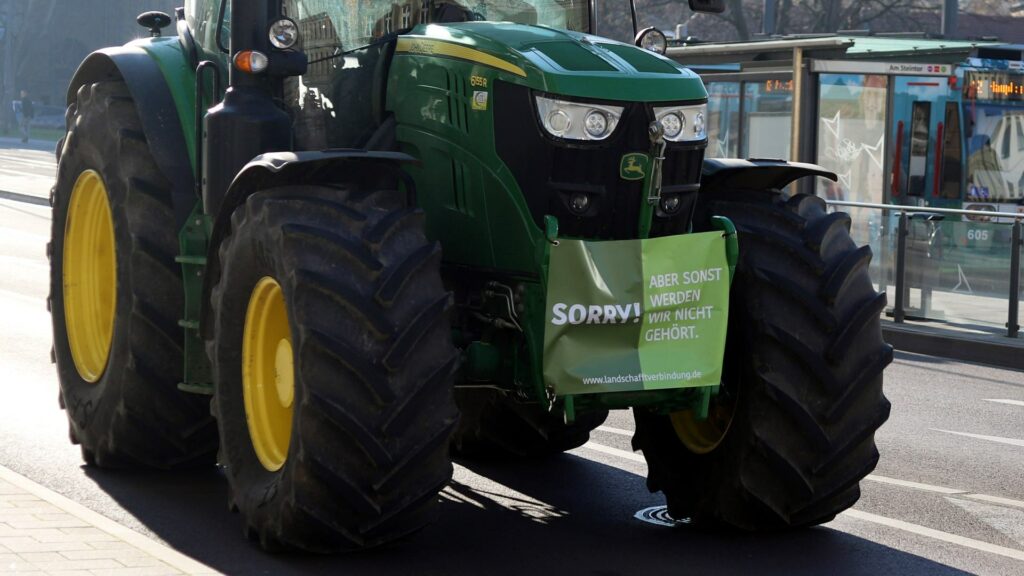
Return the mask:
<path id="1" fill-rule="evenodd" d="M 956 210 L 952 208 L 930 208 L 925 206 L 900 206 L 894 204 L 873 204 L 868 202 L 847 202 L 842 200 L 826 200 L 829 206 L 851 208 L 868 208 L 883 212 L 899 212 L 896 228 L 896 301 L 893 304 L 893 322 L 900 324 L 906 319 L 906 294 L 909 292 L 906 284 L 906 238 L 909 234 L 909 214 L 950 214 L 958 216 L 982 216 L 986 218 L 1006 218 L 1013 220 L 1010 246 L 1010 305 L 1007 314 L 1007 336 L 1016 338 L 1020 332 L 1020 282 L 1021 282 L 1021 229 L 1024 225 L 1024 213 L 995 212 L 986 210 Z M 883 229 L 888 230 L 888 227 Z M 884 233 L 885 234 L 885 233 Z M 884 284 L 883 284 L 884 285 Z M 924 288 L 924 287 L 923 287 Z"/>

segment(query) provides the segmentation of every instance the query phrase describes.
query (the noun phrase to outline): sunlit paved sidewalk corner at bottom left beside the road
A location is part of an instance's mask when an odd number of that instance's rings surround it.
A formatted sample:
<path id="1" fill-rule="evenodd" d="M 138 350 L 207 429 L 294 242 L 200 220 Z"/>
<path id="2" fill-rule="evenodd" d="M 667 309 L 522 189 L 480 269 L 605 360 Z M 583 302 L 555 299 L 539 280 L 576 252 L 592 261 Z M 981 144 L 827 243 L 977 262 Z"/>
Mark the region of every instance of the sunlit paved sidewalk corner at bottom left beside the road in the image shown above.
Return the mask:
<path id="1" fill-rule="evenodd" d="M 0 575 L 218 574 L 0 466 Z"/>

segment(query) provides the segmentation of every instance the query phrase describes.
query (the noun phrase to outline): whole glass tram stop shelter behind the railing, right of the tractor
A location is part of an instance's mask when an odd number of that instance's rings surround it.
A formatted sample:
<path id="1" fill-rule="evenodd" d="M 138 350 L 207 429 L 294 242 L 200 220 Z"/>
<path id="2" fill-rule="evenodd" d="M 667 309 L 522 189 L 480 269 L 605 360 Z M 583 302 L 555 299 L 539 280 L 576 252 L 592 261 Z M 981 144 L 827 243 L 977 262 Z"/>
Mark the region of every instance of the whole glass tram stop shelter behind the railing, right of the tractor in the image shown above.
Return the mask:
<path id="1" fill-rule="evenodd" d="M 1024 46 L 833 35 L 679 45 L 668 55 L 708 87 L 710 157 L 811 162 L 839 181 L 805 179 L 800 192 L 913 207 L 909 218 L 844 207 L 854 239 L 872 248 L 870 274 L 896 302 L 896 322 L 905 313 L 957 327 L 953 337 L 914 327 L 922 336 L 889 324 L 887 338 L 979 362 L 1024 358 L 1017 315 L 1007 313 L 1022 293 L 1010 280 L 1020 225 L 978 215 L 1024 213 Z"/>

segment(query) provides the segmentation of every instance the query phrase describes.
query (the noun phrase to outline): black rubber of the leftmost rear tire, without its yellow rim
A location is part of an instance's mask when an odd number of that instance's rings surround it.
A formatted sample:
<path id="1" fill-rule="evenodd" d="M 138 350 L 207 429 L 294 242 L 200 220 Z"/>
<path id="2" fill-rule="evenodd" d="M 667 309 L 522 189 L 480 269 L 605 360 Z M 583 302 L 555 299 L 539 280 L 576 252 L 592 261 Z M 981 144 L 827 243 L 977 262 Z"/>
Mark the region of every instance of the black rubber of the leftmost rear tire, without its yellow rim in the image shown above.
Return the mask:
<path id="1" fill-rule="evenodd" d="M 123 82 L 83 86 L 68 118 L 49 253 L 54 357 L 72 441 L 99 466 L 212 464 L 217 437 L 209 399 L 177 388 L 183 370 L 177 323 L 184 308 L 170 183 L 150 154 Z M 94 382 L 75 365 L 65 308 L 69 207 L 76 181 L 88 170 L 105 188 L 117 265 L 110 354 Z"/>

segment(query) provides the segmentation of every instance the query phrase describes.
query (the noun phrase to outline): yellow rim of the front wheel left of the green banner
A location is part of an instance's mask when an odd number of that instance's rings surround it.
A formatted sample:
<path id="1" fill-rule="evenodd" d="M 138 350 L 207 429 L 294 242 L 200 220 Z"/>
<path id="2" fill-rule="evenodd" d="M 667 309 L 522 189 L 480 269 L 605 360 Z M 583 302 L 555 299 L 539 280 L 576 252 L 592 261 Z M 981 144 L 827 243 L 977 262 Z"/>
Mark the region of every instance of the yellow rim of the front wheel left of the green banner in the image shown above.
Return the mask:
<path id="1" fill-rule="evenodd" d="M 285 293 L 270 277 L 256 283 L 246 311 L 242 394 L 256 457 L 267 470 L 279 470 L 292 440 L 295 361 Z"/>

